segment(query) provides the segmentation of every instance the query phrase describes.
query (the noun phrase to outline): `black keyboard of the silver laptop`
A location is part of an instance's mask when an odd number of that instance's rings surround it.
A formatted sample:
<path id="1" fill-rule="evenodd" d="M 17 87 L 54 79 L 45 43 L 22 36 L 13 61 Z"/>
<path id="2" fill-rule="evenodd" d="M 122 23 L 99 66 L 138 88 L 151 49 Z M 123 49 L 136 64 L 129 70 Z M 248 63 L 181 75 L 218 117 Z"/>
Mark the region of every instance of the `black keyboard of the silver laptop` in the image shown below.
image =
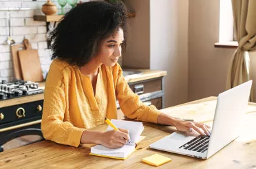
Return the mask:
<path id="1" fill-rule="evenodd" d="M 206 150 L 208 150 L 209 140 L 210 136 L 200 135 L 186 144 L 183 144 L 179 148 L 204 153 Z"/>

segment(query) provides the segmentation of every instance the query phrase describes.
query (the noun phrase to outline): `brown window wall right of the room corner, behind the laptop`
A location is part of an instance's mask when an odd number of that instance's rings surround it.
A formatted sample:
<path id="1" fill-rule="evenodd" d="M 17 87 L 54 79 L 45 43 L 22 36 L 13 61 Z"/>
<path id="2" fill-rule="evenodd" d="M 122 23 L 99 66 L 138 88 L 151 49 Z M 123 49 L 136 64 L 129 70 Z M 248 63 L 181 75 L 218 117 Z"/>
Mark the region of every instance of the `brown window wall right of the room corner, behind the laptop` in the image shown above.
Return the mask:
<path id="1" fill-rule="evenodd" d="M 189 1 L 189 101 L 225 91 L 228 66 L 235 49 L 214 47 L 219 40 L 219 13 L 220 0 Z M 256 52 L 250 52 L 252 73 L 256 72 L 255 57 Z M 256 74 L 253 80 L 256 82 Z"/>

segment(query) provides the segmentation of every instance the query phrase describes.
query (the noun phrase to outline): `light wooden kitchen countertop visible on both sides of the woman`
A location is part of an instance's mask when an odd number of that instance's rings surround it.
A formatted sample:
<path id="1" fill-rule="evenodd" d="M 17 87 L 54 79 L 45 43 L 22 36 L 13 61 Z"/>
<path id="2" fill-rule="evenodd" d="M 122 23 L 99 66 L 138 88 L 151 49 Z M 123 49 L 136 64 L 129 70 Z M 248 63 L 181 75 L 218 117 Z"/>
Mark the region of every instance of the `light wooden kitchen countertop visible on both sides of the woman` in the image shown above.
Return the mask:
<path id="1" fill-rule="evenodd" d="M 152 78 L 159 78 L 162 76 L 167 75 L 167 71 L 160 71 L 160 70 L 150 70 L 150 69 L 137 69 L 138 71 L 142 71 L 142 74 L 134 74 L 125 76 L 125 80 L 129 82 L 138 82 L 142 80 L 149 80 Z M 45 82 L 39 82 L 39 87 L 44 89 Z M 13 98 L 8 100 L 1 100 L 0 102 L 0 108 L 5 106 L 13 106 L 17 104 L 23 104 L 26 102 L 34 102 L 38 100 L 43 100 L 43 93 L 36 94 L 36 95 L 28 95 L 26 97 L 21 98 Z"/>

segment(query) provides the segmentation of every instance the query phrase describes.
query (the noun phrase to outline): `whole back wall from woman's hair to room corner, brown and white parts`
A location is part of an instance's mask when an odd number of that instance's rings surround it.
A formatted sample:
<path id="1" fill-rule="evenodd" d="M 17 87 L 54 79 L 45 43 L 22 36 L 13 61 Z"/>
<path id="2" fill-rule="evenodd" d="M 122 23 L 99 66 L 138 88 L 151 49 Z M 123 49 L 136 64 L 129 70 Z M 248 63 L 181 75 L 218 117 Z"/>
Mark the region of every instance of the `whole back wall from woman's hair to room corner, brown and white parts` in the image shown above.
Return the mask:
<path id="1" fill-rule="evenodd" d="M 164 77 L 165 106 L 188 99 L 188 0 L 125 0 L 136 12 L 129 19 L 131 34 L 123 65 L 160 69 Z"/>

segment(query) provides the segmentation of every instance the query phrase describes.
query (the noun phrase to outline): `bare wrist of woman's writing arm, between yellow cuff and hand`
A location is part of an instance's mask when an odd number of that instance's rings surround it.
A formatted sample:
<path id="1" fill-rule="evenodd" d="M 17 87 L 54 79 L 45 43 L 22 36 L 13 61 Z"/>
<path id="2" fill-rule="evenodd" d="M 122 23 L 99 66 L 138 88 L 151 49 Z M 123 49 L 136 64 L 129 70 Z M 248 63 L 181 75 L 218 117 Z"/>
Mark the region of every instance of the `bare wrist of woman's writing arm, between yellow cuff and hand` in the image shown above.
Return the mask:
<path id="1" fill-rule="evenodd" d="M 101 134 L 102 132 L 100 131 L 84 131 L 80 142 L 81 144 L 85 144 L 85 143 L 99 144 Z"/>

